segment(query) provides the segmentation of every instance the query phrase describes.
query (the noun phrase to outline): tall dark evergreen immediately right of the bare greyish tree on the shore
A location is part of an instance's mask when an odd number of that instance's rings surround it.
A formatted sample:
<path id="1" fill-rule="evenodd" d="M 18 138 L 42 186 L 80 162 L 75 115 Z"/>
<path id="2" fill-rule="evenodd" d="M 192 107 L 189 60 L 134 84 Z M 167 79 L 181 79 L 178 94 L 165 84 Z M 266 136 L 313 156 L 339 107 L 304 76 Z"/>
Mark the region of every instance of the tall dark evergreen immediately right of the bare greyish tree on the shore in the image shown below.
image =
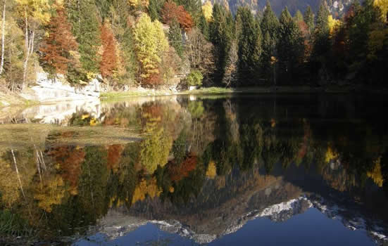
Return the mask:
<path id="1" fill-rule="evenodd" d="M 246 84 L 253 84 L 258 79 L 258 64 L 261 56 L 261 30 L 249 8 L 238 8 L 237 19 L 241 27 L 239 34 L 239 62 L 237 71 L 239 79 Z"/>

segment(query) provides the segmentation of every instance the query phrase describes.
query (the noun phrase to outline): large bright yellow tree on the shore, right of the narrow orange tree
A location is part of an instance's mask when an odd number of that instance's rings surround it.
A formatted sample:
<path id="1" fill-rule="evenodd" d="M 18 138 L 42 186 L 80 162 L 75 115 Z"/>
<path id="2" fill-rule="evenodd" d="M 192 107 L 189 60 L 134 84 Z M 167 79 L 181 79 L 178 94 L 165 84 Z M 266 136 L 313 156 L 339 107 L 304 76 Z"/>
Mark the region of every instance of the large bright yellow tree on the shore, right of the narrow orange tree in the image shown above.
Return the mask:
<path id="1" fill-rule="evenodd" d="M 142 14 L 134 27 L 134 41 L 137 60 L 141 64 L 140 77 L 149 79 L 152 75 L 158 75 L 161 58 L 168 50 L 168 40 L 161 22 L 152 22 L 149 15 Z"/>

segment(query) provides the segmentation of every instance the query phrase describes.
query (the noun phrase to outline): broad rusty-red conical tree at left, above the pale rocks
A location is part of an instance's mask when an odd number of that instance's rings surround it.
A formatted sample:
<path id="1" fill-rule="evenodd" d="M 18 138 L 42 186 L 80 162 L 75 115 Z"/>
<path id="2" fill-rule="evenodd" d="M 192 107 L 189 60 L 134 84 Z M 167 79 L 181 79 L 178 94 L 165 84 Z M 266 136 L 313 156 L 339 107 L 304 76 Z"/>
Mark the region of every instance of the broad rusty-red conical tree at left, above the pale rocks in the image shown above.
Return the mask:
<path id="1" fill-rule="evenodd" d="M 63 7 L 56 10 L 56 16 L 49 23 L 49 34 L 40 48 L 42 64 L 54 68 L 55 73 L 65 74 L 70 63 L 75 64 L 78 44 L 71 32 L 71 26 Z"/>

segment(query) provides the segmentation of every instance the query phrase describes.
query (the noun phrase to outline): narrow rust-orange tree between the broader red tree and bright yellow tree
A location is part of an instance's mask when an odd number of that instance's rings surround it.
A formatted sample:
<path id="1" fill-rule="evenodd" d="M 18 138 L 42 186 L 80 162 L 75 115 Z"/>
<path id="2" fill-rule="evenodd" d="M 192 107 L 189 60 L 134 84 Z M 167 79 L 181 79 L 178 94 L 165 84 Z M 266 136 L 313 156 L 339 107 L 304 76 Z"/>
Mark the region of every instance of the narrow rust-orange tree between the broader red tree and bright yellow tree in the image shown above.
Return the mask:
<path id="1" fill-rule="evenodd" d="M 104 49 L 100 63 L 101 75 L 103 78 L 112 77 L 118 67 L 118 56 L 115 37 L 106 23 L 101 26 L 101 42 Z"/>

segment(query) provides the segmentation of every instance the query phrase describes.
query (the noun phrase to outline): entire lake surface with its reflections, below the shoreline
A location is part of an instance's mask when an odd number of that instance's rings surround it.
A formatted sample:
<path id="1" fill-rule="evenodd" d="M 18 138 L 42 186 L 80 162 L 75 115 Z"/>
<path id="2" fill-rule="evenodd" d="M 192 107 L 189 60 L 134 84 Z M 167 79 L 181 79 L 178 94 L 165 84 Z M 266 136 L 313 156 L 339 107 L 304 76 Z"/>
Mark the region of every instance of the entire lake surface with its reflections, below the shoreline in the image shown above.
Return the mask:
<path id="1" fill-rule="evenodd" d="M 0 245 L 387 245 L 385 101 L 181 96 L 10 115 Z"/>

